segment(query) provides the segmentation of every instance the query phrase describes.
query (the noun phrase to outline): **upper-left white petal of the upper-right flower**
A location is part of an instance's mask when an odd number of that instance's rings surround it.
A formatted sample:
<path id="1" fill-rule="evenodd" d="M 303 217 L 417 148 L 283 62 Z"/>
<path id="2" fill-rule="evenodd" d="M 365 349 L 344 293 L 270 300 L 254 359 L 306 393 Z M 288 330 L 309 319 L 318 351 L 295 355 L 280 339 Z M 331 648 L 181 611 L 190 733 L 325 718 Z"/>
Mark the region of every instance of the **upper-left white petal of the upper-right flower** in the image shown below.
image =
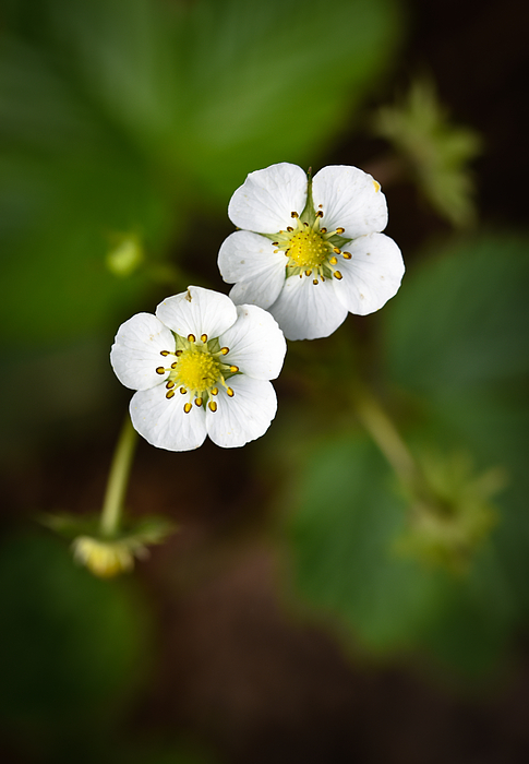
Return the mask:
<path id="1" fill-rule="evenodd" d="M 276 234 L 292 223 L 306 204 L 306 175 L 297 165 L 282 162 L 250 172 L 231 196 L 228 216 L 239 228 Z"/>

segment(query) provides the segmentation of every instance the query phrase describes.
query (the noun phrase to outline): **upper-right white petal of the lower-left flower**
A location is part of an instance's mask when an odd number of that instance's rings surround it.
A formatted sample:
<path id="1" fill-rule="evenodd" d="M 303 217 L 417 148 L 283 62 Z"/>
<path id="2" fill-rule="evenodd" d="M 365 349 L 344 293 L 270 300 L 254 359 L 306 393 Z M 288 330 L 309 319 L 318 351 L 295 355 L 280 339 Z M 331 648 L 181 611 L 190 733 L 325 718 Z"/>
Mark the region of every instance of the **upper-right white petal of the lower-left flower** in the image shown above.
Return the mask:
<path id="1" fill-rule="evenodd" d="M 233 326 L 219 337 L 229 347 L 227 363 L 238 366 L 243 374 L 259 380 L 279 375 L 287 343 L 277 322 L 262 308 L 240 306 Z"/>

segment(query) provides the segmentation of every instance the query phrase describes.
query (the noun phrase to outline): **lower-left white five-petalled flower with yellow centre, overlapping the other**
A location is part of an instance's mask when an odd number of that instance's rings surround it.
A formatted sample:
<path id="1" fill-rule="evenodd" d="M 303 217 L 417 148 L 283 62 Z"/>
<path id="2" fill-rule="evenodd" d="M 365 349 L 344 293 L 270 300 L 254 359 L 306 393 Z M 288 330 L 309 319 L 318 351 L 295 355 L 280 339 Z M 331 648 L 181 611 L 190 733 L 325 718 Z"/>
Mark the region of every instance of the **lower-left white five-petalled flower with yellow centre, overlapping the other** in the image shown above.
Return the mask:
<path id="1" fill-rule="evenodd" d="M 132 397 L 134 428 L 149 443 L 189 451 L 206 434 L 232 447 L 260 438 L 277 399 L 268 380 L 281 370 L 282 333 L 256 306 L 190 286 L 156 315 L 139 313 L 116 335 L 110 362 Z"/>

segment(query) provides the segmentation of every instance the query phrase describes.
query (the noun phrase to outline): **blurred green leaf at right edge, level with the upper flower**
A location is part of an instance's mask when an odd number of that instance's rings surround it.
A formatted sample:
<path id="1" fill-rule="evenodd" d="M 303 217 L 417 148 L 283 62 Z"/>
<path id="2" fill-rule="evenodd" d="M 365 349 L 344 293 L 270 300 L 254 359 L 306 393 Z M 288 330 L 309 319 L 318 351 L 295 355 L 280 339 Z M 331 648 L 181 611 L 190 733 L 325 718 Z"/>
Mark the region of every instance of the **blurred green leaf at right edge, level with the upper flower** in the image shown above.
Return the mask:
<path id="1" fill-rule="evenodd" d="M 435 397 L 512 384 L 529 371 L 529 239 L 482 236 L 432 255 L 384 308 L 390 378 Z"/>

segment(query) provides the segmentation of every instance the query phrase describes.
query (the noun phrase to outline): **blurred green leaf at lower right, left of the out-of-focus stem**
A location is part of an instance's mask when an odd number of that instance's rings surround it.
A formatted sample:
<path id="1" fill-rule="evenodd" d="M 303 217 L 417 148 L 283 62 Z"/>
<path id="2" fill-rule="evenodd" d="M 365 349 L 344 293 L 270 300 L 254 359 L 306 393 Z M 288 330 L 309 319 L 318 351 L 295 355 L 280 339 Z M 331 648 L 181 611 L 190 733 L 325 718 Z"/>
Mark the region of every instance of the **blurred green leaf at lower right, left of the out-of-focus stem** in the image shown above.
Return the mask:
<path id="1" fill-rule="evenodd" d="M 405 504 L 363 438 L 317 441 L 294 477 L 287 517 L 297 586 L 374 650 L 416 643 L 437 617 L 443 576 L 399 557 Z"/>

